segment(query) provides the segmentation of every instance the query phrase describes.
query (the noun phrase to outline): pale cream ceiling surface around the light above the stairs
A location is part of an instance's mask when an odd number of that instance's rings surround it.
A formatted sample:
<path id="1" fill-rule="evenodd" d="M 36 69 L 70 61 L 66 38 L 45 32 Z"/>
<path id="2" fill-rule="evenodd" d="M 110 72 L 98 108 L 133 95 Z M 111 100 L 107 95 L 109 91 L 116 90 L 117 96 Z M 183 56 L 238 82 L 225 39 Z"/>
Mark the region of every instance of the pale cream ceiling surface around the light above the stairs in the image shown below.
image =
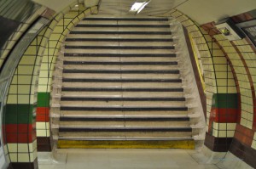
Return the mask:
<path id="1" fill-rule="evenodd" d="M 56 13 L 78 0 L 32 0 Z M 83 0 L 79 0 L 82 1 Z M 99 0 L 84 0 L 87 7 L 94 6 Z M 131 5 L 144 0 L 102 0 L 99 14 L 101 15 L 129 15 Z M 145 0 L 146 1 L 146 0 Z M 256 0 L 151 0 L 150 3 L 137 15 L 165 14 L 176 8 L 187 14 L 200 25 L 241 14 L 256 8 Z"/>

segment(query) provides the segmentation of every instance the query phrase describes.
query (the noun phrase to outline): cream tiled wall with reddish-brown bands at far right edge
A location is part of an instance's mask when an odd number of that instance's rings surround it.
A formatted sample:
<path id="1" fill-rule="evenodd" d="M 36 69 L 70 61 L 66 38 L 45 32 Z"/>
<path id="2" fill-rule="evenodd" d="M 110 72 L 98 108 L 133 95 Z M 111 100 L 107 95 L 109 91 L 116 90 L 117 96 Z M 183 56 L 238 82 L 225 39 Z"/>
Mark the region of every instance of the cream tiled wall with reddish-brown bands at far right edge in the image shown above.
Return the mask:
<path id="1" fill-rule="evenodd" d="M 244 14 L 240 14 L 239 17 L 242 15 Z M 237 20 L 236 16 L 233 18 L 236 18 Z M 250 17 L 250 20 L 251 19 L 252 18 Z M 247 38 L 230 42 L 221 34 L 219 34 L 218 30 L 214 26 L 214 23 L 208 23 L 202 26 L 207 32 L 211 32 L 209 34 L 225 54 L 229 61 L 236 82 L 236 129 L 234 139 L 230 144 L 229 150 L 234 155 L 247 162 L 250 166 L 256 167 L 256 162 L 253 160 L 256 155 L 256 102 L 254 90 L 256 82 L 255 49 Z M 235 113 L 233 117 L 235 118 Z"/>

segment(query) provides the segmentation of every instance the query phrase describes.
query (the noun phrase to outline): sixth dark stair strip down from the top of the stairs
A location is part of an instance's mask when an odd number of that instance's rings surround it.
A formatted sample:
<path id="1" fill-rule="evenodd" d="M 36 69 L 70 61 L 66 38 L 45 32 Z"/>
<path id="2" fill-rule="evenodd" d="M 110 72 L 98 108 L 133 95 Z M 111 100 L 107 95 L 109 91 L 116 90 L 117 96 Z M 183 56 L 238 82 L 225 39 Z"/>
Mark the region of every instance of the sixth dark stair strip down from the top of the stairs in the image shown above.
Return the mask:
<path id="1" fill-rule="evenodd" d="M 168 57 L 168 58 L 175 58 L 176 54 L 75 54 L 75 53 L 64 53 L 64 56 L 68 57 Z"/>

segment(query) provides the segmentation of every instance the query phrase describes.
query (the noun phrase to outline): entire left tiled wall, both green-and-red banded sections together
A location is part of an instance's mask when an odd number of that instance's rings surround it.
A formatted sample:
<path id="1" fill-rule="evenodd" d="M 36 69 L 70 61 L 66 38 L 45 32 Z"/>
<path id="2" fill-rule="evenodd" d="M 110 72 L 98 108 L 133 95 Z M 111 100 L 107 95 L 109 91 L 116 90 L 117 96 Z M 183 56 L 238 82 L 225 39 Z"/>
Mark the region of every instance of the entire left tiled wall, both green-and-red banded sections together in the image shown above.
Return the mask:
<path id="1" fill-rule="evenodd" d="M 14 168 L 38 168 L 37 152 L 51 150 L 49 92 L 55 57 L 70 28 L 97 9 L 85 9 L 80 3 L 79 10 L 73 11 L 75 4 L 56 15 L 51 24 L 38 34 L 26 49 L 12 77 L 3 112 L 3 144 Z"/>

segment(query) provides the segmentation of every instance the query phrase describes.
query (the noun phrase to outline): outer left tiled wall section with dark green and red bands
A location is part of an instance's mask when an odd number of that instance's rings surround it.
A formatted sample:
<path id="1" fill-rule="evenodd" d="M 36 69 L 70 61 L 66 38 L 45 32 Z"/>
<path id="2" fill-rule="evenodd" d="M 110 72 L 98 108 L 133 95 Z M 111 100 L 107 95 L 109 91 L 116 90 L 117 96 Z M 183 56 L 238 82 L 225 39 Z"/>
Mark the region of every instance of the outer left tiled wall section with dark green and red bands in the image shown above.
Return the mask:
<path id="1" fill-rule="evenodd" d="M 9 87 L 7 104 L 4 108 L 5 142 L 9 158 L 14 168 L 34 167 L 37 164 L 37 137 L 35 110 L 37 93 L 34 87 L 37 83 L 39 63 L 41 61 L 40 47 L 42 32 L 36 37 L 15 70 Z"/>

